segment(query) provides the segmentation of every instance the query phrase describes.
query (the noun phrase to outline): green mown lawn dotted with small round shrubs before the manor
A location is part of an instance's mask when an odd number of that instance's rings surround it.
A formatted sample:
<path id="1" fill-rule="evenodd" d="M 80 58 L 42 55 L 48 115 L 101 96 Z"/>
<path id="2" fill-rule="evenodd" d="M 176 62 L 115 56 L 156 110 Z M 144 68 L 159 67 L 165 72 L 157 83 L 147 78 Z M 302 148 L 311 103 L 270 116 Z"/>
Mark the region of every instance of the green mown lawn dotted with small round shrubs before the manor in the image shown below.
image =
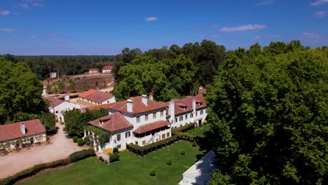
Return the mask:
<path id="1" fill-rule="evenodd" d="M 186 154 L 182 156 L 180 151 Z M 189 142 L 177 142 L 144 157 L 124 151 L 120 161 L 106 165 L 97 158 L 87 158 L 64 170 L 55 170 L 23 184 L 178 184 L 197 157 L 203 155 L 198 147 Z M 166 162 L 171 158 L 172 165 Z M 156 176 L 149 170 L 156 169 Z"/>

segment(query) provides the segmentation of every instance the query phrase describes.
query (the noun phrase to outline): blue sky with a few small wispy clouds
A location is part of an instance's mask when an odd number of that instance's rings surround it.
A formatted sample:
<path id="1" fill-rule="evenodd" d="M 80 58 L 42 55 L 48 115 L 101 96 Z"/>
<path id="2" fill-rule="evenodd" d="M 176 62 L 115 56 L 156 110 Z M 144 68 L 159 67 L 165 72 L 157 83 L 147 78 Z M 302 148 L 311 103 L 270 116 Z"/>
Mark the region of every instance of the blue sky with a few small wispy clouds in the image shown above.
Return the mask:
<path id="1" fill-rule="evenodd" d="M 1 0 L 0 53 L 116 55 L 215 41 L 328 45 L 328 0 Z"/>

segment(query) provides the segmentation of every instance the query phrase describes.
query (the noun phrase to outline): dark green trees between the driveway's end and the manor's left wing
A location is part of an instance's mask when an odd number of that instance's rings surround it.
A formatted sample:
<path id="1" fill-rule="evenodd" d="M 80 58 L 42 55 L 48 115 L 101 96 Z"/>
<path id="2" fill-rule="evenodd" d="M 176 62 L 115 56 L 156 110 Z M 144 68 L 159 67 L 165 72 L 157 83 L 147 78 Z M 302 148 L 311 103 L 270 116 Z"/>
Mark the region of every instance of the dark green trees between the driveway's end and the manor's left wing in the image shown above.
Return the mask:
<path id="1" fill-rule="evenodd" d="M 85 113 L 78 110 L 67 111 L 65 113 L 64 132 L 70 136 L 76 135 L 78 137 L 82 137 L 84 132 L 83 129 L 89 121 L 93 121 L 106 115 L 108 115 L 108 111 L 106 109 L 91 111 L 87 109 Z"/>

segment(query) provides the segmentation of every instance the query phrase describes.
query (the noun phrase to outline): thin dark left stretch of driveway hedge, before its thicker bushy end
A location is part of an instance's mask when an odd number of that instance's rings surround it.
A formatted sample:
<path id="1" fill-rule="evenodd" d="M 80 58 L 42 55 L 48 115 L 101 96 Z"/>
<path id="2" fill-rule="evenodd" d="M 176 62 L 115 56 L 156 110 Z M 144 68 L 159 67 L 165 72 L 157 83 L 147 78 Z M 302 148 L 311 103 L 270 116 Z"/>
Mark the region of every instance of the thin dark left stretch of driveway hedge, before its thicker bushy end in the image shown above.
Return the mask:
<path id="1" fill-rule="evenodd" d="M 5 184 L 15 184 L 16 181 L 19 181 L 20 179 L 24 179 L 26 177 L 30 177 L 37 172 L 40 172 L 41 170 L 51 168 L 51 167 L 58 167 L 62 165 L 68 165 L 69 160 L 67 159 L 61 159 L 61 160 L 55 160 L 51 163 L 42 163 L 39 165 L 34 165 L 33 167 L 30 167 L 26 170 L 22 170 L 21 172 L 18 172 L 17 174 L 14 174 L 11 177 L 7 177 L 6 179 L 1 179 L 0 184 L 5 185 Z"/>

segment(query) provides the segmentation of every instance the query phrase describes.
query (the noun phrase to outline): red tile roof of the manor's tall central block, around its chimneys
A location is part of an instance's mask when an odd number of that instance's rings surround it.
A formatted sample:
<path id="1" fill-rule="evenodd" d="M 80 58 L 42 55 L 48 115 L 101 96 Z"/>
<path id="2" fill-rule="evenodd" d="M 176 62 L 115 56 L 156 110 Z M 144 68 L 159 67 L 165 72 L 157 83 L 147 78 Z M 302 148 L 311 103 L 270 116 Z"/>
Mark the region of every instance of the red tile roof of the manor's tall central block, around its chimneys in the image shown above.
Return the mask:
<path id="1" fill-rule="evenodd" d="M 125 112 L 128 114 L 138 114 L 146 111 L 152 111 L 156 109 L 163 109 L 166 105 L 163 102 L 155 102 L 153 100 L 147 99 L 147 106 L 142 103 L 142 97 L 130 97 L 129 100 L 132 100 L 132 112 L 128 112 L 126 107 L 126 100 L 122 102 L 113 103 L 111 108 L 117 111 Z"/>

